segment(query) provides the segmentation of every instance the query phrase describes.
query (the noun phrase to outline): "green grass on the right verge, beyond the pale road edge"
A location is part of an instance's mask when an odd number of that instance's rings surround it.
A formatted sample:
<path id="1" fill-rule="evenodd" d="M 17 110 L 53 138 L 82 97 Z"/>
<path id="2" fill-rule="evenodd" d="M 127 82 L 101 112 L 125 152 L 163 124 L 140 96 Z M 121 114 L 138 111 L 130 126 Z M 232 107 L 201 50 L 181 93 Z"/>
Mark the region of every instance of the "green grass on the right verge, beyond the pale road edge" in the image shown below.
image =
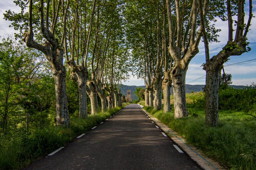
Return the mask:
<path id="1" fill-rule="evenodd" d="M 187 94 L 190 104 L 185 118 L 174 119 L 173 105 L 172 111 L 166 114 L 152 107 L 143 108 L 184 137 L 186 143 L 193 144 L 223 166 L 256 169 L 256 120 L 246 112 L 220 110 L 218 127 L 205 128 L 204 107 L 194 107 L 194 101 L 203 97 L 197 94 Z"/>

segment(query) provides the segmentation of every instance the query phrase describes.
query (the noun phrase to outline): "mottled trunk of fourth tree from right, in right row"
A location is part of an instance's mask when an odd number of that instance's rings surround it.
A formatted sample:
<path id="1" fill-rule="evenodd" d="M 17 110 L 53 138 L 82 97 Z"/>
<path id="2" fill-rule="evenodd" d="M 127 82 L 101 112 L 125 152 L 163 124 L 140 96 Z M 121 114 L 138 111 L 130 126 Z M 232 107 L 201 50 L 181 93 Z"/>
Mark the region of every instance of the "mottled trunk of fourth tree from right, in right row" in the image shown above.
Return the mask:
<path id="1" fill-rule="evenodd" d="M 154 89 L 154 109 L 162 110 L 162 76 L 163 72 L 156 70 L 156 74 L 152 80 Z"/>

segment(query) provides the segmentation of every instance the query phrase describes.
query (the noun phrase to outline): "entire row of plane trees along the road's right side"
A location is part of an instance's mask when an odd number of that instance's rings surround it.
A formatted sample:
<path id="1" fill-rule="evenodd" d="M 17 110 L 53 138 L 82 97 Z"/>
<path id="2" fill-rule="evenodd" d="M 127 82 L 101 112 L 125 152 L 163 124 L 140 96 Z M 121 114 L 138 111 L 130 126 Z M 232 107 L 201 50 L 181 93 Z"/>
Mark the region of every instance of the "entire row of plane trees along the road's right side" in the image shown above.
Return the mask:
<path id="1" fill-rule="evenodd" d="M 249 19 L 245 23 L 245 0 L 209 1 L 128 1 L 125 8 L 127 37 L 132 48 L 134 72 L 146 85 L 145 105 L 170 111 L 170 87 L 174 94 L 174 117 L 188 116 L 185 78 L 188 64 L 199 52 L 203 39 L 206 70 L 205 125 L 218 124 L 218 89 L 220 70 L 229 56 L 248 52 L 246 40 L 252 19 L 252 0 L 249 0 Z M 237 20 L 235 17 L 237 16 Z M 216 18 L 228 21 L 228 42 L 217 55 L 210 58 L 209 43 L 216 42 Z M 232 18 L 233 17 L 233 18 Z M 234 28 L 234 24 L 235 27 Z M 235 32 L 235 37 L 233 33 Z M 168 47 L 168 45 L 169 47 Z M 168 47 L 168 48 L 167 48 Z M 153 100 L 154 99 L 154 100 Z"/>

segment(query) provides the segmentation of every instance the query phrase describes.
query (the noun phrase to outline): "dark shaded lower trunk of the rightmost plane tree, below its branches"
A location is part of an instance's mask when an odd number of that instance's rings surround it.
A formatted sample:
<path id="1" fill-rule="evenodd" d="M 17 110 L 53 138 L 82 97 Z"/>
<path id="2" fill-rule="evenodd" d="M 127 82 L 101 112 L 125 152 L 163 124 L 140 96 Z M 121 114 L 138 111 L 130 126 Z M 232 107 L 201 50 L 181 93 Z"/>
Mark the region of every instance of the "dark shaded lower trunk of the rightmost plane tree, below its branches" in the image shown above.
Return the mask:
<path id="1" fill-rule="evenodd" d="M 204 65 L 206 71 L 205 85 L 205 126 L 217 126 L 219 119 L 219 78 L 220 70 L 210 62 Z"/>

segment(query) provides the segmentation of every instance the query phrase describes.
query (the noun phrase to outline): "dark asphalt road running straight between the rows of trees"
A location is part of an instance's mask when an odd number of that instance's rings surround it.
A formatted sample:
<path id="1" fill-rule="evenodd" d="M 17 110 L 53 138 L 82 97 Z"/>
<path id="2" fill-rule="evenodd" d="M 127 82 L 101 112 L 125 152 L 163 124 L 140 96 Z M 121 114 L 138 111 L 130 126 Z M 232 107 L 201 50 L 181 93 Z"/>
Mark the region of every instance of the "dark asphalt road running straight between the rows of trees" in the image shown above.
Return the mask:
<path id="1" fill-rule="evenodd" d="M 131 104 L 52 156 L 25 169 L 201 169 Z"/>

